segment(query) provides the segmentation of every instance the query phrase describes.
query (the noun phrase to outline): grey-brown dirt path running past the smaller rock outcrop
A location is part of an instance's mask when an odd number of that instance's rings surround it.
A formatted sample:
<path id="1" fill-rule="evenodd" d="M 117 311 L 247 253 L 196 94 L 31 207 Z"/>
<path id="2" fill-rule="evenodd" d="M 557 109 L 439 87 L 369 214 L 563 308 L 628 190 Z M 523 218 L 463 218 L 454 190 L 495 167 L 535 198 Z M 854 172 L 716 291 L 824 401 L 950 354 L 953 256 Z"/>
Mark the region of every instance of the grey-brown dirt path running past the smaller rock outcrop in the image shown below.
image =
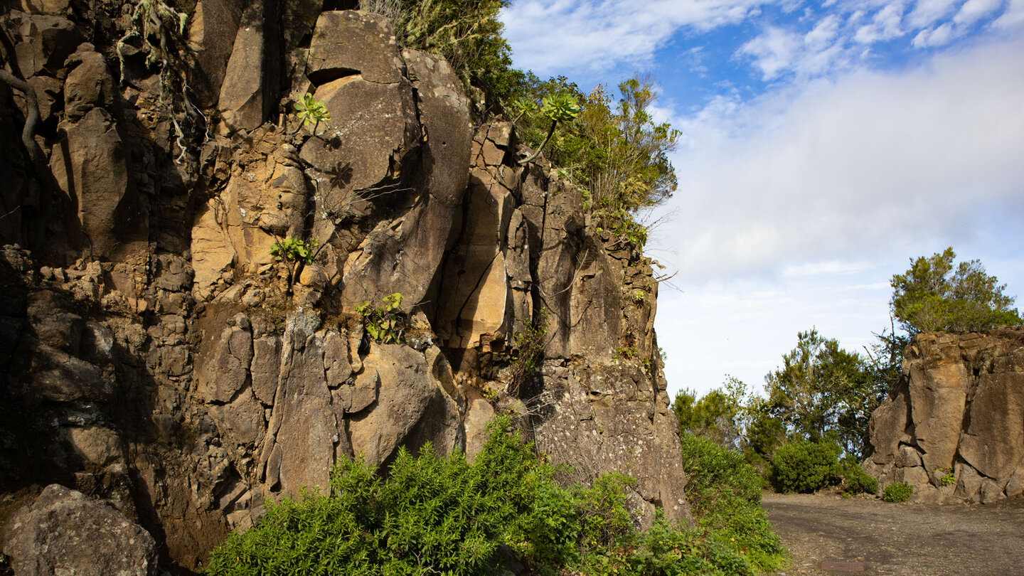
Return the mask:
<path id="1" fill-rule="evenodd" d="M 1024 499 L 894 504 L 831 495 L 763 496 L 793 563 L 776 576 L 1024 575 Z"/>

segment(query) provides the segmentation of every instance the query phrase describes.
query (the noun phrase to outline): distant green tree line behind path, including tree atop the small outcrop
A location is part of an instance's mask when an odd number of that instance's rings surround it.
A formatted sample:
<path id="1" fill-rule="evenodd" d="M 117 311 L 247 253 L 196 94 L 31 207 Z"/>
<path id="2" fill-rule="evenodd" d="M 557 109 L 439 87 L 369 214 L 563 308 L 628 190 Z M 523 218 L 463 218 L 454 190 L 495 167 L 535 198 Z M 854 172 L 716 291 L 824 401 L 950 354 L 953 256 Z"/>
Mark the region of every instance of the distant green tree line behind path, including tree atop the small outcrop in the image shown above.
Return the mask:
<path id="1" fill-rule="evenodd" d="M 797 334 L 781 366 L 765 376 L 763 395 L 732 377 L 700 398 L 681 390 L 673 404 L 681 434 L 740 451 L 766 481 L 779 480 L 773 479 L 779 472 L 775 460 L 791 443 L 807 446 L 807 453 L 835 445 L 836 454 L 860 460 L 870 441 L 868 420 L 899 380 L 913 335 L 1022 324 L 1006 285 L 981 261 L 954 265 L 955 257 L 947 248 L 911 259 L 909 270 L 893 276 L 893 326 L 876 334 L 863 354 L 843 349 L 812 328 Z"/>

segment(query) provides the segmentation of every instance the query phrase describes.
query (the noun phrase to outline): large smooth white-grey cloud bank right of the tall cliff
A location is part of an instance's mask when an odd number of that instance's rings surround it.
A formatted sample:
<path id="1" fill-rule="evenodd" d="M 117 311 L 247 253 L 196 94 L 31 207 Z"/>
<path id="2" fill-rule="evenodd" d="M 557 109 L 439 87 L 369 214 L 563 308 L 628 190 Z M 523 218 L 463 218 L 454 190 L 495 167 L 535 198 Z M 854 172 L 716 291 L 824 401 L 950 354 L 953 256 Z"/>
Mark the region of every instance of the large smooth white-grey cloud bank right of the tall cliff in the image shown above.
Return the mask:
<path id="1" fill-rule="evenodd" d="M 688 278 L 959 244 L 1024 220 L 1024 42 L 860 71 L 677 122 L 682 216 L 663 263 Z"/>

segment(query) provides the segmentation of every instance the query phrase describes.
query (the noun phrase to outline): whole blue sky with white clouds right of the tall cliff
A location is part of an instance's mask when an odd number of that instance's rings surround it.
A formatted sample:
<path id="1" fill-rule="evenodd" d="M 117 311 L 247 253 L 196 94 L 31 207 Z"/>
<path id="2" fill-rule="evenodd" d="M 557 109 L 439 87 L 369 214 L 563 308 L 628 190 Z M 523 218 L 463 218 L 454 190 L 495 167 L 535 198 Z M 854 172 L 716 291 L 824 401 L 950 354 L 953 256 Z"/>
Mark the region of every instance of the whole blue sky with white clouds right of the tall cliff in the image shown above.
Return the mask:
<path id="1" fill-rule="evenodd" d="M 634 72 L 683 132 L 648 252 L 670 392 L 759 386 L 816 326 L 889 326 L 889 280 L 952 246 L 1024 297 L 1024 0 L 513 0 L 516 66 Z M 1018 301 L 1024 307 L 1024 300 Z"/>

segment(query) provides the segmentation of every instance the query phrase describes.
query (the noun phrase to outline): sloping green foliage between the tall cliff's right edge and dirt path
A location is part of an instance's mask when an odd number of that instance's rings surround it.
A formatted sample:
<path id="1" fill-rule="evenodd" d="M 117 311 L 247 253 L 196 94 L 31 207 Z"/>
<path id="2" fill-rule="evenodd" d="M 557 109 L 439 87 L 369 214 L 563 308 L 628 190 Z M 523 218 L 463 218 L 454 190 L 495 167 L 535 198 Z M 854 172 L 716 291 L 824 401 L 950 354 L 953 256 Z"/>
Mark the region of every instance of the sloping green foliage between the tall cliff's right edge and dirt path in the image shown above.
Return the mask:
<path id="1" fill-rule="evenodd" d="M 678 399 L 678 397 L 677 397 Z M 761 507 L 761 479 L 738 452 L 680 436 L 686 495 L 697 526 L 717 545 L 739 552 L 759 572 L 780 567 L 782 544 Z"/>

